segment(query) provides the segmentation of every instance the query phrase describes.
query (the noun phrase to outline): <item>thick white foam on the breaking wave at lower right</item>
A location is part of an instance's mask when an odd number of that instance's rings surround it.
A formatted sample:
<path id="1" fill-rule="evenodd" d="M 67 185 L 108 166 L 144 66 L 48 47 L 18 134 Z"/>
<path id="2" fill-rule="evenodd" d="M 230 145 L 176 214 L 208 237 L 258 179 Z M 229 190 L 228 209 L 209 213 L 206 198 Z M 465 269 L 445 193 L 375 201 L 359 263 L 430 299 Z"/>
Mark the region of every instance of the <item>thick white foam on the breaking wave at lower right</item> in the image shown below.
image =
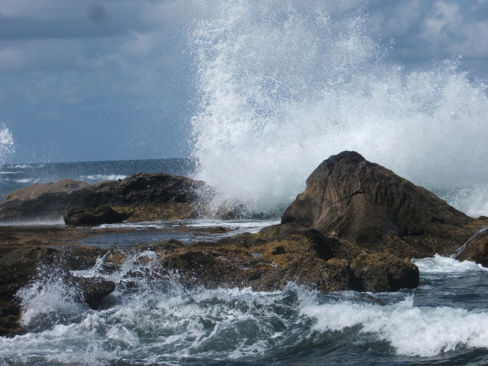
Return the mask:
<path id="1" fill-rule="evenodd" d="M 488 314 L 452 307 L 416 307 L 413 299 L 395 305 L 350 301 L 304 306 L 317 319 L 316 331 L 345 330 L 356 325 L 376 334 L 407 356 L 430 357 L 458 347 L 488 347 Z"/>

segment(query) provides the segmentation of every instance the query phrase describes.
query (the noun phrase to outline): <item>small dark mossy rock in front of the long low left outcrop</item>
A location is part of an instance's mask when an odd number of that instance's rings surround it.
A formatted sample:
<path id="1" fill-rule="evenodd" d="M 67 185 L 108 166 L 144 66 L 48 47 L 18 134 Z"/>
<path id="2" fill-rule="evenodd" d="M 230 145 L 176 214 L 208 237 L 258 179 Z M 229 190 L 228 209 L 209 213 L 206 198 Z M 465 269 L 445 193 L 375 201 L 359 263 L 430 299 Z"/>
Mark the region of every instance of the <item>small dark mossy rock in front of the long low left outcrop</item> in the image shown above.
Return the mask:
<path id="1" fill-rule="evenodd" d="M 122 223 L 133 213 L 134 209 L 130 207 L 102 206 L 94 210 L 72 209 L 64 215 L 64 223 L 69 226 Z"/>

